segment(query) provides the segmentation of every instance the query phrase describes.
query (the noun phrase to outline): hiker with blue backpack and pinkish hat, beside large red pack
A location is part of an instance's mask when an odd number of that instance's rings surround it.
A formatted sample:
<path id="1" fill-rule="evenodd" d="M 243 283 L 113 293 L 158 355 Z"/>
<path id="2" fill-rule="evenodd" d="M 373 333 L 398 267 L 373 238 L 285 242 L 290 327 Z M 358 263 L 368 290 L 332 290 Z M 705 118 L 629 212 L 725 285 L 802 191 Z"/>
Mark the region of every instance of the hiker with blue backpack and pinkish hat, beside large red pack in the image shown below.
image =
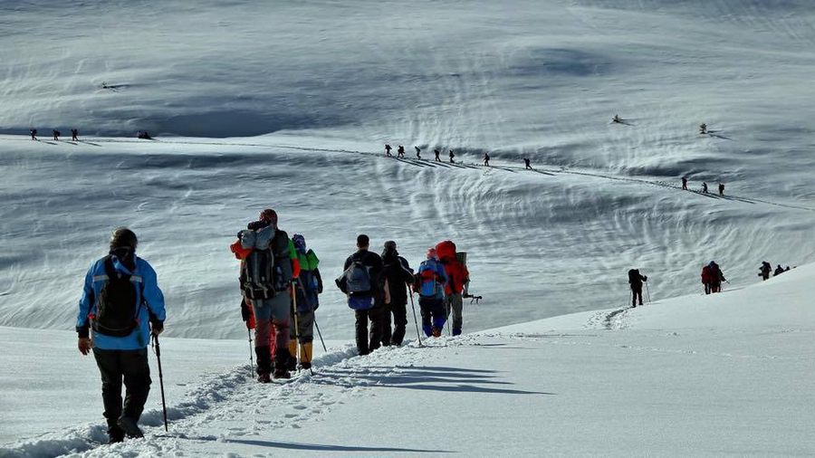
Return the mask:
<path id="1" fill-rule="evenodd" d="M 422 330 L 427 337 L 441 336 L 445 327 L 445 268 L 436 257 L 436 248 L 427 250 L 427 260 L 423 261 L 414 276 L 413 290 L 419 293 L 419 309 L 422 313 Z"/>

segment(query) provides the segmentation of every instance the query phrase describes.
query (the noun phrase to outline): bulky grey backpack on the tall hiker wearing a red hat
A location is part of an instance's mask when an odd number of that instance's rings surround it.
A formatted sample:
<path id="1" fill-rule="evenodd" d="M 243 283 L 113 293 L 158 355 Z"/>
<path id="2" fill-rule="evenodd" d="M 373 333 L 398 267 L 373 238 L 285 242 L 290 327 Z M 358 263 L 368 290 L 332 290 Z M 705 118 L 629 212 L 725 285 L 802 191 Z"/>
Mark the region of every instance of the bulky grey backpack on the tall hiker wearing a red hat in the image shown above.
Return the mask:
<path id="1" fill-rule="evenodd" d="M 278 291 L 285 290 L 288 281 L 292 279 L 291 269 L 286 279 L 282 262 L 275 262 L 275 253 L 279 254 L 280 250 L 274 249 L 277 247 L 273 246 L 273 242 L 275 238 L 285 238 L 288 245 L 287 237 L 275 237 L 276 230 L 272 226 L 256 231 L 245 229 L 239 235 L 241 247 L 252 250 L 241 263 L 240 281 L 244 296 L 247 299 L 271 299 Z"/>

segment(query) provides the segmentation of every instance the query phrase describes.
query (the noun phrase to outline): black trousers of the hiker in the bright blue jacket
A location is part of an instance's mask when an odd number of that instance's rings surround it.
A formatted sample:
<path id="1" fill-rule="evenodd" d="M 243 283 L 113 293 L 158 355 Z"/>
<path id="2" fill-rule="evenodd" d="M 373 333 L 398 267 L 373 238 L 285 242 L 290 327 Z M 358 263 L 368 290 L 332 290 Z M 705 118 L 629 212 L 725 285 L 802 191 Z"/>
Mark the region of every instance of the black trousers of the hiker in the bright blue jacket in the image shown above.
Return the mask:
<path id="1" fill-rule="evenodd" d="M 108 434 L 111 437 L 123 436 L 119 418 L 128 417 L 139 422 L 144 404 L 150 392 L 150 367 L 147 361 L 147 348 L 138 350 L 106 350 L 93 348 L 93 358 L 99 367 L 102 381 L 102 404 L 108 421 Z M 121 385 L 124 379 L 126 394 L 124 406 L 121 402 Z"/>

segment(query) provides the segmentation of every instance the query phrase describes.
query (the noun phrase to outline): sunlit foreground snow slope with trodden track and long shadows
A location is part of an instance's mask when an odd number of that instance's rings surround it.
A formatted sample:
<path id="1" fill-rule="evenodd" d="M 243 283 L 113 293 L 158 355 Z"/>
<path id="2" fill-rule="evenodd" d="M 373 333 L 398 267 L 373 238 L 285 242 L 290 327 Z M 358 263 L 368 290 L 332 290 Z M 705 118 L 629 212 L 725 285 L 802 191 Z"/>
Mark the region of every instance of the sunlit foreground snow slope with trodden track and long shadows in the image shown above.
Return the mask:
<path id="1" fill-rule="evenodd" d="M 367 357 L 330 342 L 313 375 L 272 385 L 255 383 L 248 364 L 227 362 L 241 356 L 240 342 L 164 339 L 169 432 L 154 391 L 147 437 L 116 445 L 101 444 L 91 413 L 101 410 L 95 367 L 67 354 L 72 336 L 4 329 L 20 348 L 14 358 L 38 358 L 37 342 L 53 339 L 61 358 L 49 359 L 49 370 L 86 383 L 42 386 L 35 370 L 21 371 L 15 383 L 31 383 L 26 394 L 78 408 L 51 414 L 71 427 L 9 444 L 0 456 L 810 455 L 813 281 L 809 264 L 712 296 L 430 339 L 422 348 L 411 340 Z M 6 412 L 23 420 L 19 402 Z M 0 425 L 19 427 L 12 423 Z"/>

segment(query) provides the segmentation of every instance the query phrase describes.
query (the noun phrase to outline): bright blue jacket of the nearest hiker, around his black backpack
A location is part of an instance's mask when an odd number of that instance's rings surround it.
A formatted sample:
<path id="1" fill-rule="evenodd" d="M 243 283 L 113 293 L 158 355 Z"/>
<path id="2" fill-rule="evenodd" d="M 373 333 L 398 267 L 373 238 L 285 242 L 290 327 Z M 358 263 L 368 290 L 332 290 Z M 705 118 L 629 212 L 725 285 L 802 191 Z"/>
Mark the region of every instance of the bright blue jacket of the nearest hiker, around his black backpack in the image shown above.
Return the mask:
<path id="1" fill-rule="evenodd" d="M 93 347 L 111 350 L 135 350 L 146 348 L 150 342 L 149 320 L 164 323 L 166 312 L 164 310 L 164 294 L 158 289 L 156 271 L 150 264 L 136 257 L 136 269 L 130 272 L 127 267 L 121 264 L 119 259 L 113 255 L 113 268 L 118 272 L 131 275 L 130 281 L 136 283 L 136 303 L 139 306 L 139 327 L 133 329 L 127 337 L 105 336 L 93 331 Z M 97 298 L 102 287 L 107 281 L 108 275 L 105 272 L 104 258 L 93 262 L 91 269 L 85 275 L 85 287 L 82 290 L 82 299 L 79 303 L 79 314 L 76 318 L 76 331 L 80 337 L 88 335 L 91 326 L 88 317 L 91 313 L 96 313 Z"/>

